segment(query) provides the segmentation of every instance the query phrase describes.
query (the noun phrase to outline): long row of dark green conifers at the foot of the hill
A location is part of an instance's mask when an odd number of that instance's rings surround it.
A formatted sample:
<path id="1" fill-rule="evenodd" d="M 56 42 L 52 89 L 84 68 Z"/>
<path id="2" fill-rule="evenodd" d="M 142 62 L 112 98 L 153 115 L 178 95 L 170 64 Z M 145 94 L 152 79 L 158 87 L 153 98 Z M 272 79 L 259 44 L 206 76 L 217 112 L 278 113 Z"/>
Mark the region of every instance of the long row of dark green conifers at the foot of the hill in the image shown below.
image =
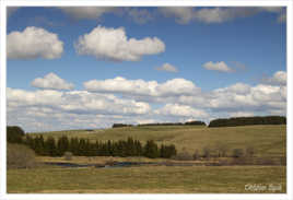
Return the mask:
<path id="1" fill-rule="evenodd" d="M 63 136 L 59 139 L 48 137 L 46 140 L 43 136 L 26 136 L 23 141 L 38 155 L 44 156 L 62 156 L 65 152 L 71 152 L 79 156 L 145 156 L 150 158 L 165 157 L 169 158 L 176 155 L 174 144 L 160 146 L 152 140 L 146 141 L 143 145 L 139 140 L 128 138 L 119 141 L 95 141 L 89 139 L 71 138 Z"/>

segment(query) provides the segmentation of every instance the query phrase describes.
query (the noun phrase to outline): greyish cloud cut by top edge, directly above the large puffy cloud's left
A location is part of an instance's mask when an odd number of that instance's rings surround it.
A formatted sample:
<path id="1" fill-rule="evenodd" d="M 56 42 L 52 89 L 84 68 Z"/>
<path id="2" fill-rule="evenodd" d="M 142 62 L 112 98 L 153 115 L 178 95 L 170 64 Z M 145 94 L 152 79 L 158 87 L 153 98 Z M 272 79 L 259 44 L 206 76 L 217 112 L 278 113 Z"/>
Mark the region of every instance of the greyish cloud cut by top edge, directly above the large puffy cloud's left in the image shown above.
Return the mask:
<path id="1" fill-rule="evenodd" d="M 115 7 L 59 7 L 66 14 L 73 19 L 98 19 L 103 14 L 117 10 Z"/>

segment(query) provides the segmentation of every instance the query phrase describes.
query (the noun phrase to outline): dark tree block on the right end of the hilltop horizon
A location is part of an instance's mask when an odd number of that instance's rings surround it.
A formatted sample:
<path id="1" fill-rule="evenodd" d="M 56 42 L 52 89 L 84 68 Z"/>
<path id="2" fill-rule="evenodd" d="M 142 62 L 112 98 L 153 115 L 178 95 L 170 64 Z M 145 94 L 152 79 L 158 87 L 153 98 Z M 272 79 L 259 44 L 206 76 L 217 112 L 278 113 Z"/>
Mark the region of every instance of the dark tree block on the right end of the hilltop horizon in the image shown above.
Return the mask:
<path id="1" fill-rule="evenodd" d="M 214 119 L 209 127 L 236 127 L 248 125 L 285 125 L 286 117 L 265 116 L 265 117 L 233 117 L 228 119 Z"/>

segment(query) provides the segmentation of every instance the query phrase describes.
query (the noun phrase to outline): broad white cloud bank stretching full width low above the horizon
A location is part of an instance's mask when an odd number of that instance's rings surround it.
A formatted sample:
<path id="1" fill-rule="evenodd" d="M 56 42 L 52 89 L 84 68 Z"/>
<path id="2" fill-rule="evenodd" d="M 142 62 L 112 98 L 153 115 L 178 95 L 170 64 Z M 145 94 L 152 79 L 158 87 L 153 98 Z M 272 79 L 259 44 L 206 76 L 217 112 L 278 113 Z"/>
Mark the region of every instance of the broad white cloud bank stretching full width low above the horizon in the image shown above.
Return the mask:
<path id="1" fill-rule="evenodd" d="M 110 127 L 114 122 L 209 121 L 220 117 L 285 115 L 286 85 L 281 72 L 269 78 L 278 84 L 271 81 L 256 85 L 235 83 L 206 92 L 185 79 L 157 83 L 120 77 L 85 82 L 87 91 L 9 87 L 8 123 L 25 130 L 60 130 Z"/>

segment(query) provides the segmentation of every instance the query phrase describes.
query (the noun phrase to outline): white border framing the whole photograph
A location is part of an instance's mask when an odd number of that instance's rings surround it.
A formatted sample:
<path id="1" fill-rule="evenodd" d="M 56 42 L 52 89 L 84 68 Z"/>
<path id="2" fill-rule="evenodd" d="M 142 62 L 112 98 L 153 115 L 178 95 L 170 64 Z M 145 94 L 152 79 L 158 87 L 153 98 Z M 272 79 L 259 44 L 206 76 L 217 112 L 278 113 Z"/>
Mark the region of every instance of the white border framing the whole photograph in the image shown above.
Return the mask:
<path id="1" fill-rule="evenodd" d="M 1 11 L 1 64 L 0 64 L 0 199 L 5 200 L 293 200 L 293 1 L 292 0 L 2 0 Z M 286 193 L 195 193 L 195 195 L 9 195 L 7 193 L 7 8 L 8 7 L 286 7 L 286 72 L 288 72 L 288 105 L 286 105 Z"/>

